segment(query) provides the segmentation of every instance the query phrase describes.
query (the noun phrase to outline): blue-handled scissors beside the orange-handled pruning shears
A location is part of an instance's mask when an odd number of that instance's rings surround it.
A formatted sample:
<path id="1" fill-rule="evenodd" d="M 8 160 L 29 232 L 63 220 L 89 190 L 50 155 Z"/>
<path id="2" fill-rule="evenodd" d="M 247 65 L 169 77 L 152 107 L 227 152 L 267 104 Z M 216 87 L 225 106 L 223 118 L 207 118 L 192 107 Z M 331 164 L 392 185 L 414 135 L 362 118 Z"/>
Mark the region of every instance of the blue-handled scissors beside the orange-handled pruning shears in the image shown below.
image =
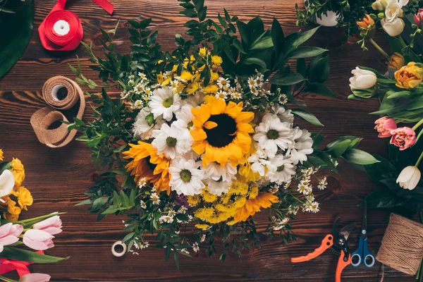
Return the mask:
<path id="1" fill-rule="evenodd" d="M 367 202 L 364 201 L 362 228 L 361 228 L 360 243 L 358 243 L 358 249 L 351 255 L 351 265 L 354 267 L 364 264 L 366 267 L 374 266 L 374 255 L 369 252 L 367 247 Z"/>

